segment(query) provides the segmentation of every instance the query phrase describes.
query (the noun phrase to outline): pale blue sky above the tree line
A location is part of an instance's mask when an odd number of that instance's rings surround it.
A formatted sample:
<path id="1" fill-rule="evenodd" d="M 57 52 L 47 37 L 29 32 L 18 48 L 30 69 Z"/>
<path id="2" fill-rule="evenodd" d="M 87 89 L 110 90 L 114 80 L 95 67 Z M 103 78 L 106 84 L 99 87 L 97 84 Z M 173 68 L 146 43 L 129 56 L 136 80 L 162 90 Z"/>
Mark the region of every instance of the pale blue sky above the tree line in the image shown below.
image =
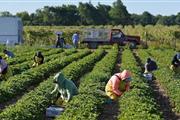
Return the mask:
<path id="1" fill-rule="evenodd" d="M 89 2 L 93 5 L 112 5 L 116 0 L 0 0 L 0 12 L 9 11 L 12 14 L 27 11 L 33 13 L 44 6 L 61 6 L 62 4 L 78 5 L 79 2 Z M 180 0 L 122 0 L 129 13 L 142 14 L 148 11 L 153 15 L 176 15 L 180 12 Z"/>

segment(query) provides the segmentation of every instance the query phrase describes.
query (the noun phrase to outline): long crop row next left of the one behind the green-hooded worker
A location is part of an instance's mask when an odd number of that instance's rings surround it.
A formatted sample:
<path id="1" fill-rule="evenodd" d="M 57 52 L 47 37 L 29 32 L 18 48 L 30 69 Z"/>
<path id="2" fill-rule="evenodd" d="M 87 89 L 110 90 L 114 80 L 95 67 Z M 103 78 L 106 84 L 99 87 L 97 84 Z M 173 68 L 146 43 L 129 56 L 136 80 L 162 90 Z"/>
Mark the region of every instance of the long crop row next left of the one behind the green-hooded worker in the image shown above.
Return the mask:
<path id="1" fill-rule="evenodd" d="M 49 77 L 52 73 L 57 72 L 60 68 L 63 68 L 74 60 L 80 59 L 88 54 L 90 54 L 90 51 L 85 50 L 68 57 L 60 56 L 47 64 L 42 64 L 37 68 L 29 69 L 22 74 L 10 77 L 8 81 L 1 82 L 0 103 L 21 94 L 23 91 L 26 91 L 28 87 L 42 82 L 43 79 Z"/>

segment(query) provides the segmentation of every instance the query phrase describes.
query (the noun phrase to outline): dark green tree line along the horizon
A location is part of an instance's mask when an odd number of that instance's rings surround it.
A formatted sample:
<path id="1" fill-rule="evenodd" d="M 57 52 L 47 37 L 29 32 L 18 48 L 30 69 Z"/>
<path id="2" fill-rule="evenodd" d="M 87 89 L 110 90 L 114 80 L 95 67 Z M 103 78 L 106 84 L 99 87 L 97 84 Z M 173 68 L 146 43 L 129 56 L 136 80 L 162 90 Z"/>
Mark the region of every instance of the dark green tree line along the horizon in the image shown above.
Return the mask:
<path id="1" fill-rule="evenodd" d="M 171 16 L 154 16 L 145 11 L 142 14 L 130 14 L 121 0 L 117 0 L 112 6 L 89 3 L 75 5 L 44 6 L 35 13 L 19 12 L 12 15 L 8 11 L 0 13 L 0 16 L 18 16 L 24 25 L 180 25 L 180 12 Z"/>

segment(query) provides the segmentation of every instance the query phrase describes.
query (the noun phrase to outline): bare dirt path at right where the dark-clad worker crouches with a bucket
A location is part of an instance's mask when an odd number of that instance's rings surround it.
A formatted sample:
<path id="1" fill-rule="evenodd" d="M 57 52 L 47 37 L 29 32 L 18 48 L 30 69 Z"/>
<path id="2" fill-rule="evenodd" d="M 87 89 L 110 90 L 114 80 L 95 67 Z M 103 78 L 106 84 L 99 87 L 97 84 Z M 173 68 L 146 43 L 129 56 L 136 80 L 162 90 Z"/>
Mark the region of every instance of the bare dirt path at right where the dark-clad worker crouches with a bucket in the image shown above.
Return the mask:
<path id="1" fill-rule="evenodd" d="M 133 55 L 138 65 L 141 66 L 143 72 L 143 64 L 136 51 L 133 51 Z M 154 98 L 156 100 L 156 103 L 160 106 L 160 111 L 163 114 L 164 120 L 180 120 L 180 116 L 178 116 L 175 112 L 172 111 L 169 97 L 166 94 L 165 90 L 159 84 L 158 80 L 153 80 L 149 82 L 149 86 L 153 89 Z"/>

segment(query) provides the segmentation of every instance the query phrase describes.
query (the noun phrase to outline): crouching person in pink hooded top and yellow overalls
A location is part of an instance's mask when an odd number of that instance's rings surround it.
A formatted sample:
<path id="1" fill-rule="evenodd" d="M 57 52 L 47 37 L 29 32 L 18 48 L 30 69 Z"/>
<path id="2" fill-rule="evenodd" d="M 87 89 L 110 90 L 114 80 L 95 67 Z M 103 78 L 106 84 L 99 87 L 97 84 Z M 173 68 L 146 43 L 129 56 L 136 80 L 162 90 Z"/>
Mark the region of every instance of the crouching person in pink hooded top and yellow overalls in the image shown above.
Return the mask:
<path id="1" fill-rule="evenodd" d="M 114 74 L 106 84 L 106 95 L 111 100 L 117 100 L 125 91 L 129 90 L 130 81 L 131 73 L 128 70 Z"/>

